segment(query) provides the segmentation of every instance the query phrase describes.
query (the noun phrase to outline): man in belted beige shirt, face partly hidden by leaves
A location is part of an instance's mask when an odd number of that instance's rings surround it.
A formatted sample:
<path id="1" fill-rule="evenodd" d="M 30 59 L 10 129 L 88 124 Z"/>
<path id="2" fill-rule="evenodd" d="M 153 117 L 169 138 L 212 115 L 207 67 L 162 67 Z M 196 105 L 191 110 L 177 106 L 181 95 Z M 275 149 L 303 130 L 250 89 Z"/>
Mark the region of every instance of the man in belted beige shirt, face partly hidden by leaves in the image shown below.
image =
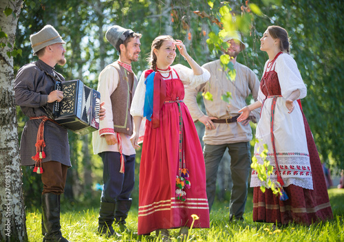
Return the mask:
<path id="1" fill-rule="evenodd" d="M 248 191 L 248 176 L 250 173 L 250 140 L 252 130 L 248 121 L 237 122 L 239 109 L 246 106 L 246 98 L 252 94 L 257 100 L 259 80 L 251 69 L 237 62 L 237 55 L 244 50 L 239 33 L 226 36 L 224 42 L 228 43 L 225 54 L 230 56 L 236 72 L 235 80 L 229 80 L 222 69 L 220 60 L 203 65 L 211 73 L 207 83 L 195 89 L 186 89 L 184 102 L 189 108 L 195 122 L 200 121 L 206 126 L 204 133 L 204 162 L 206 164 L 206 195 L 208 197 L 209 211 L 215 199 L 216 179 L 219 162 L 228 148 L 230 155 L 230 170 L 232 173 L 233 188 L 230 195 L 229 220 L 243 220 Z M 228 72 L 228 71 L 227 71 Z M 213 100 L 204 98 L 206 114 L 198 107 L 197 93 L 210 92 Z M 222 96 L 230 92 L 230 104 L 222 100 Z M 256 120 L 259 113 L 255 113 Z"/>

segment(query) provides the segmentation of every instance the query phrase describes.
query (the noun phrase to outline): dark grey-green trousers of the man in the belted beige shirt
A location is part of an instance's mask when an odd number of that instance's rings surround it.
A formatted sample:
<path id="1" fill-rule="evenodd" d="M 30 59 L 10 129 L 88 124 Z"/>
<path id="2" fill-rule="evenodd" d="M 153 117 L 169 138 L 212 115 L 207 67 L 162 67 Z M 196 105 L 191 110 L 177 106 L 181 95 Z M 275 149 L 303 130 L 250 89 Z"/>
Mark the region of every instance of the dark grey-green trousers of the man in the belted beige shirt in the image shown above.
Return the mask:
<path id="1" fill-rule="evenodd" d="M 204 162 L 206 164 L 206 195 L 209 210 L 213 206 L 216 192 L 216 179 L 219 162 L 228 148 L 233 188 L 230 194 L 229 218 L 243 219 L 247 199 L 248 176 L 250 175 L 250 142 L 211 145 L 204 144 Z"/>

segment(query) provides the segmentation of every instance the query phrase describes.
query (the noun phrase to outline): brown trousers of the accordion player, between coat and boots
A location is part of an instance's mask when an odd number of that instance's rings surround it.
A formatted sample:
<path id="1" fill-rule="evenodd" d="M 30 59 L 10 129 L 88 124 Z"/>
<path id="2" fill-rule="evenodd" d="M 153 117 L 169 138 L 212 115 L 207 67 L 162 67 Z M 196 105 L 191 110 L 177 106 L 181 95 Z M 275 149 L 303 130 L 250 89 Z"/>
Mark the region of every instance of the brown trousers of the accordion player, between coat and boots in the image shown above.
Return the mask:
<path id="1" fill-rule="evenodd" d="M 44 193 L 61 195 L 65 190 L 68 166 L 60 162 L 43 162 L 44 172 L 41 174 Z"/>

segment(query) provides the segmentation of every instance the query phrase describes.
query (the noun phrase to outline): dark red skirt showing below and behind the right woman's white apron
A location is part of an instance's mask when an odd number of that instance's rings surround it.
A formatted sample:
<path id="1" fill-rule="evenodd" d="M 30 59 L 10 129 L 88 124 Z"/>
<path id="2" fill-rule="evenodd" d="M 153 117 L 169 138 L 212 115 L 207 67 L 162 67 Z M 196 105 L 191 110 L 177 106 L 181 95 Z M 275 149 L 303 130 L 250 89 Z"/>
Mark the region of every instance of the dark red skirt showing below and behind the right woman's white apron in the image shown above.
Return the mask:
<path id="1" fill-rule="evenodd" d="M 280 201 L 271 189 L 266 189 L 266 192 L 263 193 L 259 187 L 255 187 L 253 190 L 253 221 L 282 224 L 295 222 L 310 225 L 316 221 L 333 219 L 319 153 L 310 126 L 303 112 L 302 114 L 310 153 L 313 190 L 295 185 L 283 187 L 289 199 Z"/>

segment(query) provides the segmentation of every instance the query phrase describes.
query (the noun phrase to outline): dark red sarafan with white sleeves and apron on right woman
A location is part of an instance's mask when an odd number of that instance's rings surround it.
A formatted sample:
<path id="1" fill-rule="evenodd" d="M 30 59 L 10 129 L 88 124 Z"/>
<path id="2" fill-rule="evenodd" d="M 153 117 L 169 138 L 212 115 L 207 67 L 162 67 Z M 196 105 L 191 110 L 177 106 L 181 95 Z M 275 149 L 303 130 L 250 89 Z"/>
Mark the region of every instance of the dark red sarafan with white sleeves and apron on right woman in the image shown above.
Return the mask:
<path id="1" fill-rule="evenodd" d="M 262 162 L 259 153 L 268 144 L 266 159 L 274 166 L 270 179 L 283 180 L 289 199 L 281 201 L 270 189 L 261 192 L 261 181 L 252 170 L 253 221 L 282 224 L 294 221 L 310 225 L 332 219 L 323 169 L 301 102 L 294 101 L 292 113 L 286 108 L 286 97 L 292 91 L 299 89 L 299 98 L 307 94 L 297 64 L 289 54 L 279 54 L 264 69 L 259 89 L 259 101 L 263 105 L 257 124 L 255 157 Z"/>

